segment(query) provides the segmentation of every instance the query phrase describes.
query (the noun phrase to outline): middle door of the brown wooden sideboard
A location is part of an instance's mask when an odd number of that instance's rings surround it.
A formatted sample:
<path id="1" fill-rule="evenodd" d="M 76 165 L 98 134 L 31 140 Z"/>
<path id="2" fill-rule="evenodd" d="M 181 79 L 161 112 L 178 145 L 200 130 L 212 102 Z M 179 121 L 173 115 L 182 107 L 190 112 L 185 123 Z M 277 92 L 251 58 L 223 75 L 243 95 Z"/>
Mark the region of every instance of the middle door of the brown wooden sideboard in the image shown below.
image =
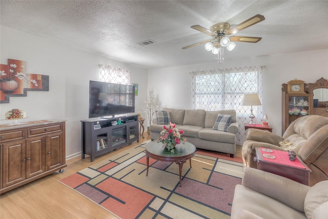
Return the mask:
<path id="1" fill-rule="evenodd" d="M 46 137 L 26 140 L 26 178 L 46 171 Z"/>

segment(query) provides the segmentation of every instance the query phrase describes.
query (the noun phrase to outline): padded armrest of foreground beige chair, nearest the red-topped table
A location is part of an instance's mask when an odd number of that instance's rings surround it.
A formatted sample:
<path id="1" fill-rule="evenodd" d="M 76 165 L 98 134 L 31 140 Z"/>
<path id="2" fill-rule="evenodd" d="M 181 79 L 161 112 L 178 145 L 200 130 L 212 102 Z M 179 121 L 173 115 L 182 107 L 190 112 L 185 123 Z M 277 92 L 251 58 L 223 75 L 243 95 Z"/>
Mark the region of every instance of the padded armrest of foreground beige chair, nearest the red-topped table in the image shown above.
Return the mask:
<path id="1" fill-rule="evenodd" d="M 311 188 L 276 174 L 251 167 L 244 167 L 241 184 L 300 212 L 304 212 L 305 196 Z"/>

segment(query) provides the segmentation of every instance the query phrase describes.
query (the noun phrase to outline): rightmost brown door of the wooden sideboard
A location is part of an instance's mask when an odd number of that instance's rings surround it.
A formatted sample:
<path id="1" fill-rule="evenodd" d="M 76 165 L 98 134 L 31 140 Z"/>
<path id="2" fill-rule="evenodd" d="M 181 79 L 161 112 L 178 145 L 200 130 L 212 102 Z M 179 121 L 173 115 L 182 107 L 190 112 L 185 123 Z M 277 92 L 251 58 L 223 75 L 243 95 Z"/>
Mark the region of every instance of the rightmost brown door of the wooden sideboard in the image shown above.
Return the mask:
<path id="1" fill-rule="evenodd" d="M 63 133 L 46 136 L 46 171 L 63 164 Z"/>

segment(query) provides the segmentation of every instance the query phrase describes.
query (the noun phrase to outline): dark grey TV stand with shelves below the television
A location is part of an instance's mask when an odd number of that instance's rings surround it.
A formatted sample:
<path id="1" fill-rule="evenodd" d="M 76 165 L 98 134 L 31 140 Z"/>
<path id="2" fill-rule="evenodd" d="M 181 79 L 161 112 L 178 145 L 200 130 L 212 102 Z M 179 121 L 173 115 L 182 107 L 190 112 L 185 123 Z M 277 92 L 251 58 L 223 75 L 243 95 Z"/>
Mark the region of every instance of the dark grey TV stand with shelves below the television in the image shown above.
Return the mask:
<path id="1" fill-rule="evenodd" d="M 113 125 L 119 118 L 95 118 L 81 121 L 81 156 L 90 155 L 91 162 L 95 157 L 105 155 L 131 144 L 139 142 L 138 114 L 126 115 L 125 120 L 132 122 Z"/>

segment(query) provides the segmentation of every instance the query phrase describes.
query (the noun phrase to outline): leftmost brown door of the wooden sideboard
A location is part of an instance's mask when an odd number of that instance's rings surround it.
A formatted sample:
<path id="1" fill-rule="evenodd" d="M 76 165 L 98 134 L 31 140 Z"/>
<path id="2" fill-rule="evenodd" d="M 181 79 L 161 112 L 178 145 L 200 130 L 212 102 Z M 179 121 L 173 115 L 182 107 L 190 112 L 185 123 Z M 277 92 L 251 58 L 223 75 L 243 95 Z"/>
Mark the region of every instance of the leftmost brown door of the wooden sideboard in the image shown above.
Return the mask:
<path id="1" fill-rule="evenodd" d="M 3 187 L 26 179 L 26 141 L 3 144 Z"/>

